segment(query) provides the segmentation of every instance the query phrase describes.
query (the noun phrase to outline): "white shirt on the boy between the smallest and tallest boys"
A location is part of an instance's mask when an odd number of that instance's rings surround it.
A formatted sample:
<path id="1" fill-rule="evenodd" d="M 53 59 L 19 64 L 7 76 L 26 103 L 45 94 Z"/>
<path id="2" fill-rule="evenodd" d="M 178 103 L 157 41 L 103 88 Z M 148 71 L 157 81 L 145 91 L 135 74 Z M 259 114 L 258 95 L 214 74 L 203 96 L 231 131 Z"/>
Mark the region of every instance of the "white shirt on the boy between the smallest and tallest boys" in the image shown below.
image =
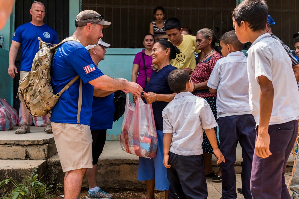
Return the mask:
<path id="1" fill-rule="evenodd" d="M 217 90 L 217 117 L 251 114 L 248 99 L 247 58 L 237 51 L 219 59 L 207 86 Z"/>

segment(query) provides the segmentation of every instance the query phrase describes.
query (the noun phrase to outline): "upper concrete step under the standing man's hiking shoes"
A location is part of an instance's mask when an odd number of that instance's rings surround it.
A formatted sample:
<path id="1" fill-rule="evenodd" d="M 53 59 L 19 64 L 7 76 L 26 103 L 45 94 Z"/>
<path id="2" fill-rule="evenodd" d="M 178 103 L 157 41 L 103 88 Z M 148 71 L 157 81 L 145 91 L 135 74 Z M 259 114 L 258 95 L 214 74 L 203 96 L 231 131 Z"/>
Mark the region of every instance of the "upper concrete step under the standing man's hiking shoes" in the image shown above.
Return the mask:
<path id="1" fill-rule="evenodd" d="M 0 159 L 46 160 L 57 153 L 52 133 L 45 133 L 44 127 L 31 127 L 31 132 L 17 135 L 13 127 L 1 131 Z"/>

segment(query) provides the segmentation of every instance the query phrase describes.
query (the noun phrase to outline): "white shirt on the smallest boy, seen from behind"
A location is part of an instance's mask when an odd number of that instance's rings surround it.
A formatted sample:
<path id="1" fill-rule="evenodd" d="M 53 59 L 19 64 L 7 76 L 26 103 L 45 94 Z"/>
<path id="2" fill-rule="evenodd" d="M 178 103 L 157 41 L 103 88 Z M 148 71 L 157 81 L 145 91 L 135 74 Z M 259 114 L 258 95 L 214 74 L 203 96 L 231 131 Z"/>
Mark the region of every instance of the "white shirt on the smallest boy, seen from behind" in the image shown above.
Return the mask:
<path id="1" fill-rule="evenodd" d="M 204 98 L 190 92 L 176 94 L 162 111 L 163 133 L 173 133 L 170 152 L 201 155 L 204 129 L 217 126 L 213 112 Z"/>

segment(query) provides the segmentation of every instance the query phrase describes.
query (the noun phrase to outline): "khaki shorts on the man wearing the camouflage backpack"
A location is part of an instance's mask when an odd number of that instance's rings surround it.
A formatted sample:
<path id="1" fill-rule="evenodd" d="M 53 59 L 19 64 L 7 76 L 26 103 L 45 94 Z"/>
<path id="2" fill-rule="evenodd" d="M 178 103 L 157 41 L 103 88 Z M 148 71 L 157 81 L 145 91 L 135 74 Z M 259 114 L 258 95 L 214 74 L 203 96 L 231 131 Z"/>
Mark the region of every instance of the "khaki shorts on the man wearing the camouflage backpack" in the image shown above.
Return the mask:
<path id="1" fill-rule="evenodd" d="M 92 168 L 92 137 L 84 124 L 51 122 L 62 171 Z"/>

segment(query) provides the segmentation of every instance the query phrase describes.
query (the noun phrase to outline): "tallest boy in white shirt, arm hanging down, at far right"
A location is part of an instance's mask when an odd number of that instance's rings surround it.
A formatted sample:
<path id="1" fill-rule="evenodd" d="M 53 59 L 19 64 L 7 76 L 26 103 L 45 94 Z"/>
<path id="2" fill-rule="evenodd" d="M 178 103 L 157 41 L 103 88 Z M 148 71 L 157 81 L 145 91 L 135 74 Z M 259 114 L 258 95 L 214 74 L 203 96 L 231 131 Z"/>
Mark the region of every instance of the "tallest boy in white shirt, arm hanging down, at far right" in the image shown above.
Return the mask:
<path id="1" fill-rule="evenodd" d="M 252 198 L 291 198 L 284 174 L 298 133 L 299 93 L 292 61 L 279 41 L 266 33 L 263 0 L 242 1 L 233 25 L 248 50 L 249 104 L 257 123 L 251 171 Z"/>

